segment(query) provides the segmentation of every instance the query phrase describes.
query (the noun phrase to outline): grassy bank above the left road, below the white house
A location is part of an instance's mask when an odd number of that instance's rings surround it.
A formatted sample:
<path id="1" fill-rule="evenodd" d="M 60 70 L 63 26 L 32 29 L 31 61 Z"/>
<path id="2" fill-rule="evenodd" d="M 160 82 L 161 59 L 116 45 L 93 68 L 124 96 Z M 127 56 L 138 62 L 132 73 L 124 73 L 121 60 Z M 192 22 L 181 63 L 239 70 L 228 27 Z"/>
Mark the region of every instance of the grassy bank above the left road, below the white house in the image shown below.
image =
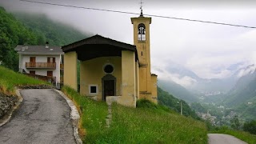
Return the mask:
<path id="1" fill-rule="evenodd" d="M 0 91 L 5 94 L 14 94 L 14 86 L 46 84 L 40 80 L 27 77 L 13 70 L 0 66 Z"/>

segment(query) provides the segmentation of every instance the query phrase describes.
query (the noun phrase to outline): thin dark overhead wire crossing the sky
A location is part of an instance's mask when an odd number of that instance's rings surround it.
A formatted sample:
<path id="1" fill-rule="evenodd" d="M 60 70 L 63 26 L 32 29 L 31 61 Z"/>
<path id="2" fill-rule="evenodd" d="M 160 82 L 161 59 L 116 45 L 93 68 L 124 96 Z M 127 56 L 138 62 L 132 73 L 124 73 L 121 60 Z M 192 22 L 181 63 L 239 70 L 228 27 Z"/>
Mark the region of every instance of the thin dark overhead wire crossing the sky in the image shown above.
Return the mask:
<path id="1" fill-rule="evenodd" d="M 72 7 L 72 8 L 78 8 L 78 9 L 86 9 L 86 10 L 107 11 L 107 12 L 114 12 L 114 13 L 121 13 L 121 14 L 139 14 L 139 13 L 133 13 L 133 12 L 128 12 L 128 11 L 98 9 L 98 8 L 83 7 L 83 6 L 71 6 L 71 5 L 64 5 L 64 4 L 51 3 L 51 2 L 38 2 L 38 1 L 30 1 L 30 0 L 20 0 L 20 1 L 22 1 L 22 2 L 34 2 L 34 3 L 52 5 L 52 6 L 65 6 L 65 7 Z M 169 16 L 162 16 L 162 15 L 155 15 L 155 14 L 143 14 L 143 15 L 150 16 L 150 17 L 156 17 L 156 18 L 169 18 L 169 19 L 176 19 L 176 20 L 190 21 L 190 22 L 210 23 L 210 24 L 215 24 L 215 25 L 237 26 L 237 27 L 244 27 L 244 28 L 250 28 L 250 29 L 255 29 L 256 28 L 255 26 L 243 26 L 243 25 L 236 25 L 236 24 L 225 23 L 225 22 L 202 21 L 202 20 L 198 20 L 198 19 L 176 18 L 176 17 L 169 17 Z"/>

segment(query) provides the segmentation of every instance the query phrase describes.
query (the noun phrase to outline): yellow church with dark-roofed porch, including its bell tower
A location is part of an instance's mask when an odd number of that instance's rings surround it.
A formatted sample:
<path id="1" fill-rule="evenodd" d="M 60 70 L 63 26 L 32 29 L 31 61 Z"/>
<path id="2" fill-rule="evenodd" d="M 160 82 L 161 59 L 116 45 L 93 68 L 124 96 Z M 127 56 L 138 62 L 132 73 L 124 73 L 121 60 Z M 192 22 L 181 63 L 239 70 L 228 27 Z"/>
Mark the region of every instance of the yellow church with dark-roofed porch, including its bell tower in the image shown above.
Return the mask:
<path id="1" fill-rule="evenodd" d="M 157 75 L 150 72 L 151 18 L 141 15 L 131 22 L 134 45 L 94 35 L 62 46 L 64 85 L 78 90 L 79 60 L 80 94 L 132 107 L 140 98 L 157 103 Z"/>

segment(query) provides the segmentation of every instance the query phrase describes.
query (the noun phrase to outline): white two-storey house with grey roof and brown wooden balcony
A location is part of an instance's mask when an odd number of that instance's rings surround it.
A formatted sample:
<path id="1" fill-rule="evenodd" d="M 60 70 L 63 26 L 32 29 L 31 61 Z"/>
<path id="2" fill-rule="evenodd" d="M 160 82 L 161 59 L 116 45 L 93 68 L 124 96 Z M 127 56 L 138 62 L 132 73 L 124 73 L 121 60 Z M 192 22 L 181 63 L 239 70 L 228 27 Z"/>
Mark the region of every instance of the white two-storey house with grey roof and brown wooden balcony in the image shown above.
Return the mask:
<path id="1" fill-rule="evenodd" d="M 54 82 L 62 81 L 63 52 L 60 46 L 26 46 L 18 45 L 15 50 L 19 54 L 19 71 L 21 73 L 42 78 L 50 78 Z"/>

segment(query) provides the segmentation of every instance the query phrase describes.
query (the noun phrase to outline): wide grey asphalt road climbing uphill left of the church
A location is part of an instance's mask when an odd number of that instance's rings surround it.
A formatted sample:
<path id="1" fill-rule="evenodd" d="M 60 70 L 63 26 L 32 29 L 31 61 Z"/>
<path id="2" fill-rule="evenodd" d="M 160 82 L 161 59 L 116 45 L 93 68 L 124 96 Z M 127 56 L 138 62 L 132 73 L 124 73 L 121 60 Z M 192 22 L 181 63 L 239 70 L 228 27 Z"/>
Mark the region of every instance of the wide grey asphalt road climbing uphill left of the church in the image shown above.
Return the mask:
<path id="1" fill-rule="evenodd" d="M 24 98 L 10 122 L 0 127 L 1 144 L 75 143 L 70 107 L 56 91 L 22 90 Z"/>

